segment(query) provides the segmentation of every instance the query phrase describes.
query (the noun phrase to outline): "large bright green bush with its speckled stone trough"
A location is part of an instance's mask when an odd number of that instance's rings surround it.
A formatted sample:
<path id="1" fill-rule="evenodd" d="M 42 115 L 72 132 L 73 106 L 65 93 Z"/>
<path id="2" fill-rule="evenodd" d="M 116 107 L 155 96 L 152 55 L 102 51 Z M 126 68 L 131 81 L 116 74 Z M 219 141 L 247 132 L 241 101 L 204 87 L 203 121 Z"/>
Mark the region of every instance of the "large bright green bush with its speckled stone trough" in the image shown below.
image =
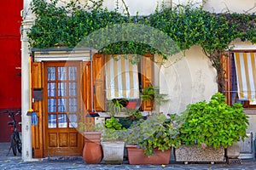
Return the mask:
<path id="1" fill-rule="evenodd" d="M 188 105 L 181 117 L 176 161 L 224 161 L 224 148 L 247 137 L 248 117 L 240 104 L 227 105 L 224 94 Z"/>

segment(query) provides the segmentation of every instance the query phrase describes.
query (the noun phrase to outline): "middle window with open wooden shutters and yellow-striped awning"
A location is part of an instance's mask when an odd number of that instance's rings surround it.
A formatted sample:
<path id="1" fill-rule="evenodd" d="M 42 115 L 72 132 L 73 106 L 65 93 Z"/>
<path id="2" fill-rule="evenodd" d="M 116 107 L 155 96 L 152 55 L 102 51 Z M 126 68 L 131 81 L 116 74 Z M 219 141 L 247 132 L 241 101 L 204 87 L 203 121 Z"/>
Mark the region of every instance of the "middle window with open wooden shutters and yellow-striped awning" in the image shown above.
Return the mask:
<path id="1" fill-rule="evenodd" d="M 125 56 L 129 59 L 130 56 Z M 137 65 L 132 65 L 122 55 L 95 54 L 93 57 L 94 110 L 105 111 L 111 99 L 140 99 L 144 87 L 154 85 L 152 55 L 144 55 Z M 151 111 L 151 102 L 140 105 L 142 111 Z"/>

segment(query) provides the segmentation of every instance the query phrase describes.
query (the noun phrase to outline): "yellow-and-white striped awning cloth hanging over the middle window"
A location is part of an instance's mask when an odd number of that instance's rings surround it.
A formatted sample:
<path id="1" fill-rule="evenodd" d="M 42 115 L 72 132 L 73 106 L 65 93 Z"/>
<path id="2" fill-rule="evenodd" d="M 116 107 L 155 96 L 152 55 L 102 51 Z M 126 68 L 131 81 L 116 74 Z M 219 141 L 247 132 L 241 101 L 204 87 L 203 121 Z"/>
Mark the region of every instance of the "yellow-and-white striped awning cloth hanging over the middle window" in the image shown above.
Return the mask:
<path id="1" fill-rule="evenodd" d="M 122 55 L 106 55 L 107 99 L 139 99 L 137 65 Z"/>

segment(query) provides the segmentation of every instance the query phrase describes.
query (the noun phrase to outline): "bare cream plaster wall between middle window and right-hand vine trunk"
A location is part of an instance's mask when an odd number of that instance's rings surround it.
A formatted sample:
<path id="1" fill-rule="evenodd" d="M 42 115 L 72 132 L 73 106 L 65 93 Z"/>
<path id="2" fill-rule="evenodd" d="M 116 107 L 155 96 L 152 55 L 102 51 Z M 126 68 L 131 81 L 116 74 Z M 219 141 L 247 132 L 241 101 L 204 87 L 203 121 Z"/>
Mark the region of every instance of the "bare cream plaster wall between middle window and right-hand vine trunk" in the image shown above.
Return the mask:
<path id="1" fill-rule="evenodd" d="M 180 113 L 186 105 L 209 100 L 218 91 L 216 70 L 198 46 L 172 56 L 160 68 L 160 93 L 170 101 L 160 112 Z"/>

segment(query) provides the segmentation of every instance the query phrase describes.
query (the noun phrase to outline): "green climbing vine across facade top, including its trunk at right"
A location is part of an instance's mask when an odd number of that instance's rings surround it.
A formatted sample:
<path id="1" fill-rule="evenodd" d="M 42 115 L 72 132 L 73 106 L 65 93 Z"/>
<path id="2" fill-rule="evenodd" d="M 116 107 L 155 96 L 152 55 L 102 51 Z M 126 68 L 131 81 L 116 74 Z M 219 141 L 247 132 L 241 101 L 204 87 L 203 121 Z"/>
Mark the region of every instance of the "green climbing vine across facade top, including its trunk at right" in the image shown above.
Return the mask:
<path id="1" fill-rule="evenodd" d="M 175 8 L 166 8 L 161 5 L 148 16 L 139 14 L 130 16 L 126 5 L 126 14 L 123 15 L 117 10 L 109 11 L 107 8 L 102 8 L 103 0 L 89 0 L 88 2 L 90 3 L 82 5 L 76 0 L 60 6 L 57 5 L 60 0 L 50 0 L 50 3 L 44 0 L 32 0 L 32 12 L 36 15 L 36 20 L 27 33 L 30 47 L 66 46 L 73 48 L 85 37 L 89 37 L 87 45 L 98 49 L 98 52 L 102 54 L 158 53 L 164 59 L 168 59 L 172 54 L 177 53 L 178 49 L 185 50 L 193 45 L 199 45 L 212 61 L 212 66 L 217 69 L 218 88 L 223 92 L 221 55 L 229 48 L 230 42 L 237 38 L 241 41 L 256 42 L 255 14 L 213 14 L 202 8 L 191 8 L 191 4 L 188 4 L 178 5 Z M 118 3 L 117 8 L 119 8 Z M 97 37 L 97 34 L 90 37 L 93 32 L 104 31 L 109 26 L 124 25 L 128 35 L 131 34 L 129 31 L 132 31 L 135 25 L 154 29 L 149 31 L 150 34 L 145 33 L 145 30 L 142 30 L 143 32 L 134 30 L 134 32 L 138 31 L 136 32 L 137 39 L 142 40 L 138 42 L 132 41 L 132 38 L 130 41 L 125 41 L 125 34 L 119 35 L 119 39 L 114 39 L 113 35 L 119 34 L 114 31 L 112 32 L 113 39 L 109 39 L 107 44 L 105 37 Z M 145 28 L 148 29 L 148 27 Z M 119 27 L 115 28 L 119 31 Z M 171 47 L 173 42 L 160 39 L 163 37 L 159 36 L 159 31 L 170 37 L 178 49 Z M 98 41 L 95 42 L 95 39 Z"/>

